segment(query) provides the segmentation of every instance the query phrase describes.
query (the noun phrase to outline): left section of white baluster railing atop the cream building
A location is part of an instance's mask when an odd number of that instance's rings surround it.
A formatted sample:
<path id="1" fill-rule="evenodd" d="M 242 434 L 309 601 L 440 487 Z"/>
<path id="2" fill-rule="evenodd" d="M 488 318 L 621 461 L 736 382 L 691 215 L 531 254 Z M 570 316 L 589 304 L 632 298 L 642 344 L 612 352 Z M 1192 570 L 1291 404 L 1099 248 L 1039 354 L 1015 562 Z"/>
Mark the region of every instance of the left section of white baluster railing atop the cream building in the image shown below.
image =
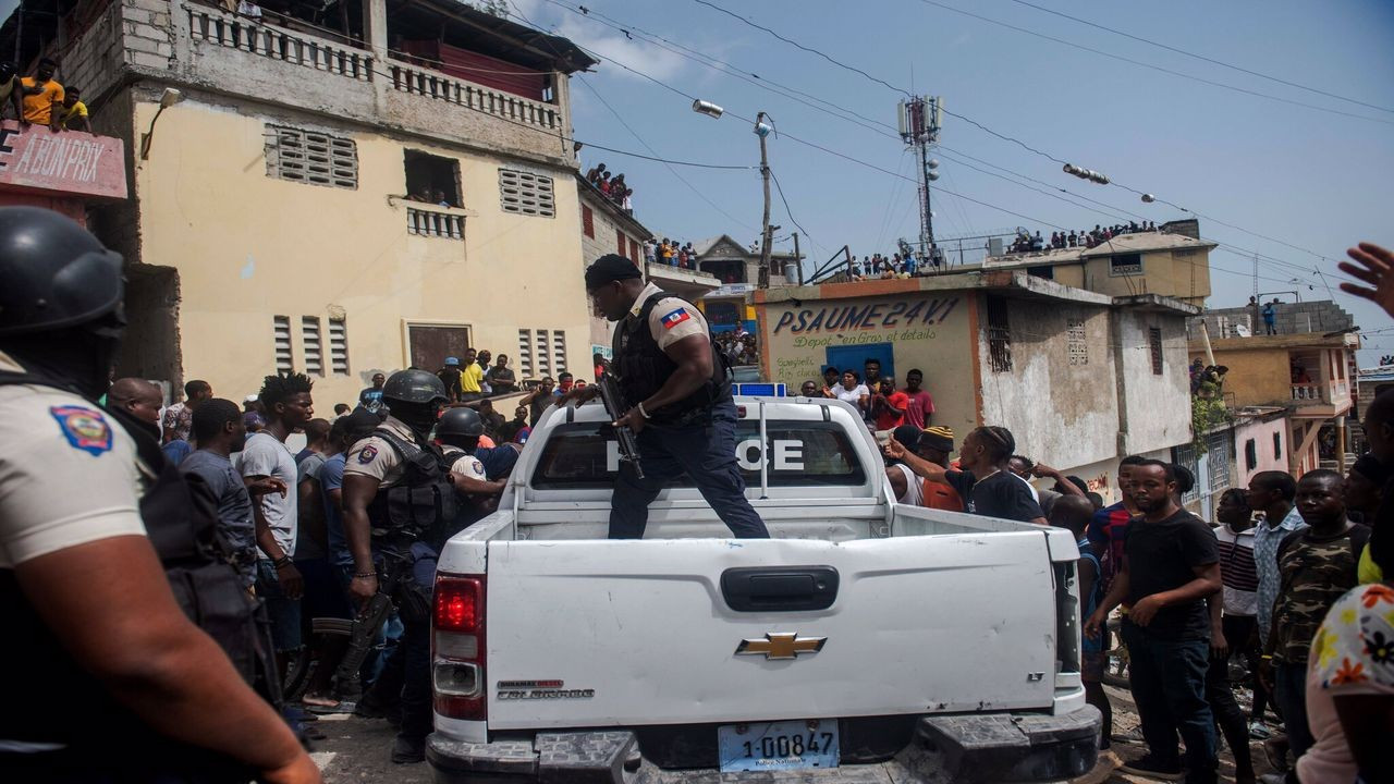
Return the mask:
<path id="1" fill-rule="evenodd" d="M 194 40 L 282 60 L 364 82 L 372 81 L 372 56 L 361 49 L 286 32 L 247 17 L 185 6 Z"/>

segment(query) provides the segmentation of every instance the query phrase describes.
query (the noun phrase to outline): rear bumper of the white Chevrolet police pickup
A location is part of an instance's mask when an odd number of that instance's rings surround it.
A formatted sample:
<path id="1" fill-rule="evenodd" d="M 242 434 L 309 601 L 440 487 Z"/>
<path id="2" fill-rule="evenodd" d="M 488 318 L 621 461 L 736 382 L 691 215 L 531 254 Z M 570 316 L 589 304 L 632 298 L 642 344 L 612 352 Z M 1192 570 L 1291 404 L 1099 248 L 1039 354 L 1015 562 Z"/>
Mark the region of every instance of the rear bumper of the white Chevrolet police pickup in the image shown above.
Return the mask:
<path id="1" fill-rule="evenodd" d="M 1057 781 L 1083 776 L 1098 760 L 1098 710 L 1065 716 L 933 716 L 892 759 L 828 770 L 761 771 L 760 781 Z M 432 734 L 427 760 L 438 784 L 538 781 L 669 784 L 715 780 L 712 769 L 665 770 L 640 755 L 626 730 L 539 732 L 533 741 L 468 744 Z"/>

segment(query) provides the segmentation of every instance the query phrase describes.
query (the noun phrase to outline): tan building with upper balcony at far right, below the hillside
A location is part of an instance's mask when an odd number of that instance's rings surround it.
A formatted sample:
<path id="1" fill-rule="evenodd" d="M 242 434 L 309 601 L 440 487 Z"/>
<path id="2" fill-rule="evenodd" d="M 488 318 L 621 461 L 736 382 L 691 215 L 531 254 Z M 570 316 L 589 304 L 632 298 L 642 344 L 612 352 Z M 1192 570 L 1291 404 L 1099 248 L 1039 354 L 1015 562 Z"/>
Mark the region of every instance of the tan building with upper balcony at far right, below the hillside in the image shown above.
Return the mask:
<path id="1" fill-rule="evenodd" d="M 1218 338 L 1209 342 L 1214 364 L 1225 365 L 1224 400 L 1232 409 L 1287 410 L 1287 470 L 1347 467 L 1347 416 L 1359 338 L 1349 332 Z M 1209 363 L 1206 342 L 1190 340 L 1192 360 Z M 1262 448 L 1262 445 L 1257 445 Z M 1280 444 L 1274 444 L 1280 449 Z"/>

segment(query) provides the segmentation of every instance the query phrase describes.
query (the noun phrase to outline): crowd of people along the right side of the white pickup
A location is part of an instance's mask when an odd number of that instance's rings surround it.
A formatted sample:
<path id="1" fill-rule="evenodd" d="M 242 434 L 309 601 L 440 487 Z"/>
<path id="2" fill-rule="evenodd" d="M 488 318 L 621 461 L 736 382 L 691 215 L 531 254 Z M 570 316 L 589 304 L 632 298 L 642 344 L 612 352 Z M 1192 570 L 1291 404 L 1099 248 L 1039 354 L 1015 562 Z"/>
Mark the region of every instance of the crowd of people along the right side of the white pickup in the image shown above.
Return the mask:
<path id="1" fill-rule="evenodd" d="M 1104 717 L 1101 748 L 1146 746 L 1122 771 L 1217 781 L 1223 737 L 1238 784 L 1354 783 L 1361 773 L 1359 781 L 1394 780 L 1394 391 L 1366 410 L 1370 452 L 1347 476 L 1260 472 L 1223 494 L 1211 525 L 1184 508 L 1196 480 L 1181 465 L 1125 458 L 1121 501 L 1104 506 L 1085 480 L 1013 455 L 1002 427 L 976 428 L 949 462 L 953 434 L 928 424 L 933 403 L 919 406 L 924 419 L 896 424 L 916 410 L 919 371 L 901 391 L 885 378 L 860 382 L 877 370 L 842 371 L 834 386 L 829 368 L 822 388 L 809 381 L 803 395 L 836 396 L 874 413 L 871 427 L 894 425 L 882 449 L 899 502 L 1052 525 L 1076 537 L 1080 671 Z M 1037 490 L 1032 478 L 1054 485 Z M 1115 735 L 1103 681 L 1122 663 L 1140 731 Z M 1248 716 L 1236 689 L 1252 692 Z M 1274 773 L 1256 776 L 1250 741 L 1263 741 Z"/>

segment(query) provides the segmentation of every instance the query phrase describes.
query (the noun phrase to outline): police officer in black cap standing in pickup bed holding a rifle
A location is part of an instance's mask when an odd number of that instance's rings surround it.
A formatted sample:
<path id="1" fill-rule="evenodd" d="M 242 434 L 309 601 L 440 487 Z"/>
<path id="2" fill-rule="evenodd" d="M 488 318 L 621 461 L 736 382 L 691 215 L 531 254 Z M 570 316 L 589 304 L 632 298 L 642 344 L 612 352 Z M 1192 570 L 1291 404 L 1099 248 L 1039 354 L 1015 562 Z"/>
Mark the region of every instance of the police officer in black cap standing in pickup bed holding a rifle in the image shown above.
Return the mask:
<path id="1" fill-rule="evenodd" d="M 644 285 L 634 262 L 602 255 L 585 271 L 585 292 L 615 326 L 611 372 L 638 442 L 640 478 L 622 463 L 611 502 L 611 538 L 643 538 L 648 504 L 664 484 L 687 473 L 703 498 L 739 538 L 768 538 L 764 520 L 746 501 L 736 463 L 736 405 L 730 372 L 718 356 L 707 319 L 691 303 Z M 567 395 L 588 400 L 598 386 Z"/>

